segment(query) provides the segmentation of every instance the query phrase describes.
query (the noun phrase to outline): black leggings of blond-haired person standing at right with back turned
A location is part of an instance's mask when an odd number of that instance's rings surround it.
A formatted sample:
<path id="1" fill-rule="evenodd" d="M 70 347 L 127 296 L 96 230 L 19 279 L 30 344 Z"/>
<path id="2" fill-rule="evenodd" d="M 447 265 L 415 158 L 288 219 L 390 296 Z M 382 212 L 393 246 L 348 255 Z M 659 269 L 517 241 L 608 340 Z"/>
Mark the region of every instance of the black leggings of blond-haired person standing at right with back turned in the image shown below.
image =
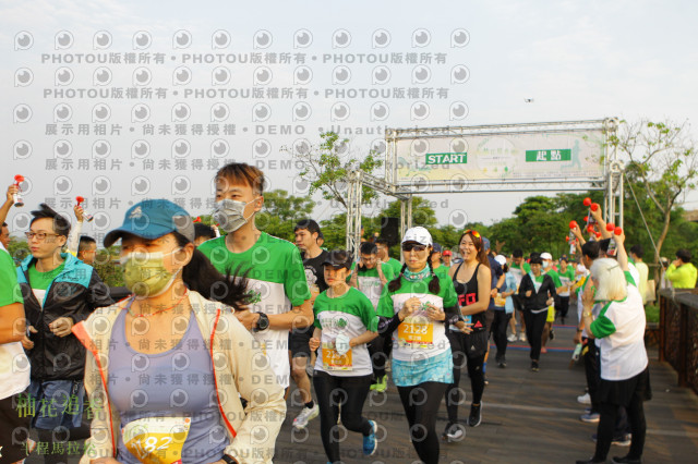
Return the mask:
<path id="1" fill-rule="evenodd" d="M 605 460 L 609 454 L 609 450 L 611 449 L 611 441 L 615 434 L 617 414 L 621 407 L 618 407 L 617 404 L 602 402 L 600 410 L 601 418 L 599 419 L 599 427 L 597 429 L 597 450 L 593 456 L 595 460 Z M 630 425 L 630 432 L 633 434 L 628 460 L 639 460 L 642 456 L 645 434 L 647 431 L 645 407 L 639 394 L 635 393 L 633 395 L 630 404 L 626 407 L 626 411 L 628 423 Z"/>

